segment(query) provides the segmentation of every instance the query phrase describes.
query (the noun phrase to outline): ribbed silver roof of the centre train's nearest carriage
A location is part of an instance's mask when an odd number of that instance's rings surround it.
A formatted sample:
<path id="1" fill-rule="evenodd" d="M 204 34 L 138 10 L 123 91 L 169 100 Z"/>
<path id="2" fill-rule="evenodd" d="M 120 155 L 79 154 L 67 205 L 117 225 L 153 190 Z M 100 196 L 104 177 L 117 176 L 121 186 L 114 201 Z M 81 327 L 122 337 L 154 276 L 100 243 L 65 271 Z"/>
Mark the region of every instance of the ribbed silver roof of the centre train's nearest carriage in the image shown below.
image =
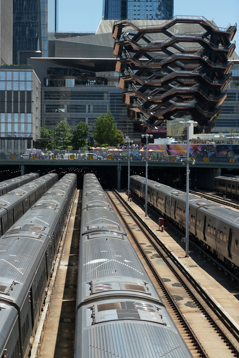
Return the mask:
<path id="1" fill-rule="evenodd" d="M 143 302 L 127 301 L 96 303 L 92 318 L 89 305 L 78 310 L 76 329 L 77 332 L 83 330 L 83 333 L 76 337 L 77 357 L 192 357 L 180 334 L 174 328 L 163 324 L 165 317 L 160 317 L 160 307 L 150 305 L 147 311 L 145 306 L 140 309 L 140 303 Z M 159 311 L 156 312 L 157 309 Z M 121 316 L 125 317 L 125 314 L 127 318 L 120 319 Z M 135 317 L 138 320 L 135 320 Z M 116 320 L 106 321 L 110 318 Z M 93 319 L 97 324 L 92 324 Z M 150 321 L 153 319 L 154 322 Z"/>

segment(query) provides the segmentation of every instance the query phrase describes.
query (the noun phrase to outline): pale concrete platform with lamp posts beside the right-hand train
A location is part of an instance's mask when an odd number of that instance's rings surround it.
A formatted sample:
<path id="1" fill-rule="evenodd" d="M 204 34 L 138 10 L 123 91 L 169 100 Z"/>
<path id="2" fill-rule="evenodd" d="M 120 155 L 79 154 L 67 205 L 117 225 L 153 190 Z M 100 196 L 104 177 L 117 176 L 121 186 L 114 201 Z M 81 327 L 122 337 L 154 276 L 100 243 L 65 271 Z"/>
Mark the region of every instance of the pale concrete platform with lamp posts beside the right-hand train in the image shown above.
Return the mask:
<path id="1" fill-rule="evenodd" d="M 218 302 L 218 304 L 230 315 L 231 319 L 239 325 L 239 288 L 234 281 L 228 280 L 223 274 L 213 268 L 209 262 L 189 247 L 189 256 L 185 257 L 185 243 L 181 242 L 175 231 L 164 227 L 163 232 L 159 231 L 158 218 L 155 218 L 148 209 L 148 216 L 145 217 L 143 205 L 137 200 L 128 200 L 127 194 L 118 191 L 128 205 L 147 223 L 150 229 L 157 235 L 168 248 L 178 257 L 187 270 L 200 282 L 202 289 L 205 289 Z M 160 272 L 159 272 L 160 274 Z M 164 277 L 164 276 L 163 276 Z M 164 277 L 167 279 L 167 277 Z"/>

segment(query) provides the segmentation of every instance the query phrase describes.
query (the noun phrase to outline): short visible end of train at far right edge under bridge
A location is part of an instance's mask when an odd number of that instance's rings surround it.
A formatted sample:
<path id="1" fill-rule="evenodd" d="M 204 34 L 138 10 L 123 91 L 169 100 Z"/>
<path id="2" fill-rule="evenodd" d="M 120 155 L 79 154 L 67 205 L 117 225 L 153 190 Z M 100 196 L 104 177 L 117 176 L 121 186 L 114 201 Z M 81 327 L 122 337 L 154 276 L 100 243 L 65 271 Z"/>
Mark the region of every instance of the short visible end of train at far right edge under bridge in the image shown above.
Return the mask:
<path id="1" fill-rule="evenodd" d="M 221 175 L 214 178 L 214 190 L 219 194 L 228 194 L 232 197 L 239 197 L 239 176 Z"/>

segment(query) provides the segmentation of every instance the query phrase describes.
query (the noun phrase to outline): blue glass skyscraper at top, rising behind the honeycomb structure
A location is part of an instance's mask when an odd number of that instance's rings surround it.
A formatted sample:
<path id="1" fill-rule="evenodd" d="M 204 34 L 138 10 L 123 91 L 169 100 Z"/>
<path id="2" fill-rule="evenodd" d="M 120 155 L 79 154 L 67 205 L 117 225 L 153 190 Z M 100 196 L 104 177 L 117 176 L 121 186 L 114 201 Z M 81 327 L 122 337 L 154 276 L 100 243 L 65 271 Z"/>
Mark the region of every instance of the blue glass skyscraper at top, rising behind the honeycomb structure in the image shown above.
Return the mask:
<path id="1" fill-rule="evenodd" d="M 173 0 L 103 0 L 103 20 L 168 20 Z"/>

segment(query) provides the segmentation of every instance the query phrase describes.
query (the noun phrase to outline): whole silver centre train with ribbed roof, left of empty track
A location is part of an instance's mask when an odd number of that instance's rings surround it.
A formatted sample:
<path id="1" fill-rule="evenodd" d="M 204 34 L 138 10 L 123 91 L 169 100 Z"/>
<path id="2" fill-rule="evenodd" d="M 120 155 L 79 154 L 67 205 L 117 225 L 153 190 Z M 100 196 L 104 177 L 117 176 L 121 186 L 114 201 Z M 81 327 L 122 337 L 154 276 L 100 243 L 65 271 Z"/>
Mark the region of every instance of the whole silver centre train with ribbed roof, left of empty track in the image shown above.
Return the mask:
<path id="1" fill-rule="evenodd" d="M 82 190 L 74 358 L 191 358 L 94 174 Z"/>

